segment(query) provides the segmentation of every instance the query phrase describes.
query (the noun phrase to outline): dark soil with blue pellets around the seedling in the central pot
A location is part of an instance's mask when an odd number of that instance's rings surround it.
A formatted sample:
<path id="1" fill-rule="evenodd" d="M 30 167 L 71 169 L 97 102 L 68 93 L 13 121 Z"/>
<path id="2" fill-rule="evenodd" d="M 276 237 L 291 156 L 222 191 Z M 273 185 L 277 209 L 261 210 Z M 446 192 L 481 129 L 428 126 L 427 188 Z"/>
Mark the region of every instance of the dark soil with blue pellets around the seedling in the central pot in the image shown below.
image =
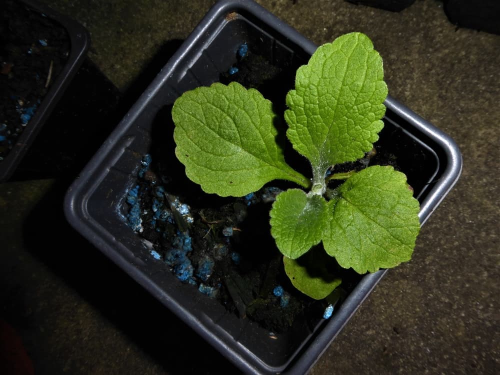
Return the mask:
<path id="1" fill-rule="evenodd" d="M 220 81 L 236 80 L 255 87 L 273 102 L 277 139 L 287 162 L 310 175 L 308 161 L 286 141 L 282 119 L 284 98 L 293 87 L 297 66 L 278 68 L 251 51 L 240 53 L 243 47 L 246 49 L 243 45 L 238 50 L 237 63 L 220 75 Z M 126 197 L 128 225 L 143 238 L 152 257 L 168 264 L 179 282 L 217 298 L 239 317 L 252 319 L 273 332 L 286 331 L 297 318 L 305 316 L 305 311 L 307 318 L 312 311 L 319 321 L 325 308 L 350 292 L 362 275 L 339 267 L 330 258 L 332 268 L 342 278 L 335 299 L 317 301 L 297 291 L 284 273 L 282 255 L 269 225 L 269 210 L 276 194 L 296 186 L 272 181 L 259 191 L 236 198 L 204 193 L 187 179 L 183 165 L 174 156 L 170 112 L 168 106 L 157 115 L 159 133 L 153 139 L 162 141 L 153 142 L 150 154 L 143 157 L 137 182 Z M 386 142 L 390 143 L 392 133 L 386 134 Z M 375 146 L 365 158 L 336 166 L 332 172 L 359 170 L 371 164 L 399 169 L 390 150 Z M 320 246 L 313 251 L 324 253 Z"/>

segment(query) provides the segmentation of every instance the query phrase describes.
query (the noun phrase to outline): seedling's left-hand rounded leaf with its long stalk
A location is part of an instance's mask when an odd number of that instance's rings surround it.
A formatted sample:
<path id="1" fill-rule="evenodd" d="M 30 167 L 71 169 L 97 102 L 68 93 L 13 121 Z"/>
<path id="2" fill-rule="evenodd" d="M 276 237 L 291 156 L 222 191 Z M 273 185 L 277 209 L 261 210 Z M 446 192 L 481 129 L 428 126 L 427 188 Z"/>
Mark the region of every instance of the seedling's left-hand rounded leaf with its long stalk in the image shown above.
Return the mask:
<path id="1" fill-rule="evenodd" d="M 172 108 L 175 155 L 205 192 L 242 196 L 273 179 L 306 187 L 275 141 L 271 102 L 239 83 L 184 92 Z"/>

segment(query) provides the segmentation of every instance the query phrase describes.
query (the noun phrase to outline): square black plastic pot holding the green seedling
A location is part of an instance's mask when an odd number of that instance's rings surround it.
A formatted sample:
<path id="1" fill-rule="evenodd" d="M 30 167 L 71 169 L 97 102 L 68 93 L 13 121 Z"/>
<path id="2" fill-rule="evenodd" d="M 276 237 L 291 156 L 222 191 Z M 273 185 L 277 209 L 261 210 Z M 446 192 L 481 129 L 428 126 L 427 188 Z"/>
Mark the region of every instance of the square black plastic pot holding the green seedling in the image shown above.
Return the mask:
<path id="1" fill-rule="evenodd" d="M 300 329 L 270 335 L 165 271 L 124 220 L 124 200 L 135 183 L 142 156 L 154 142 L 162 141 L 158 134 L 172 126 L 168 121 L 171 104 L 185 90 L 218 81 L 236 63 L 236 51 L 242 43 L 285 70 L 306 63 L 316 49 L 254 2 L 218 2 L 70 186 L 64 210 L 72 226 L 240 369 L 247 373 L 303 374 L 385 271 L 360 278 L 329 320 L 318 316 Z M 289 78 L 293 82 L 294 76 Z M 421 202 L 423 223 L 456 182 L 461 156 L 453 141 L 430 123 L 390 97 L 385 104 L 385 127 L 379 142 L 390 148 L 408 175 Z M 165 152 L 173 155 L 173 149 L 165 147 Z"/>

